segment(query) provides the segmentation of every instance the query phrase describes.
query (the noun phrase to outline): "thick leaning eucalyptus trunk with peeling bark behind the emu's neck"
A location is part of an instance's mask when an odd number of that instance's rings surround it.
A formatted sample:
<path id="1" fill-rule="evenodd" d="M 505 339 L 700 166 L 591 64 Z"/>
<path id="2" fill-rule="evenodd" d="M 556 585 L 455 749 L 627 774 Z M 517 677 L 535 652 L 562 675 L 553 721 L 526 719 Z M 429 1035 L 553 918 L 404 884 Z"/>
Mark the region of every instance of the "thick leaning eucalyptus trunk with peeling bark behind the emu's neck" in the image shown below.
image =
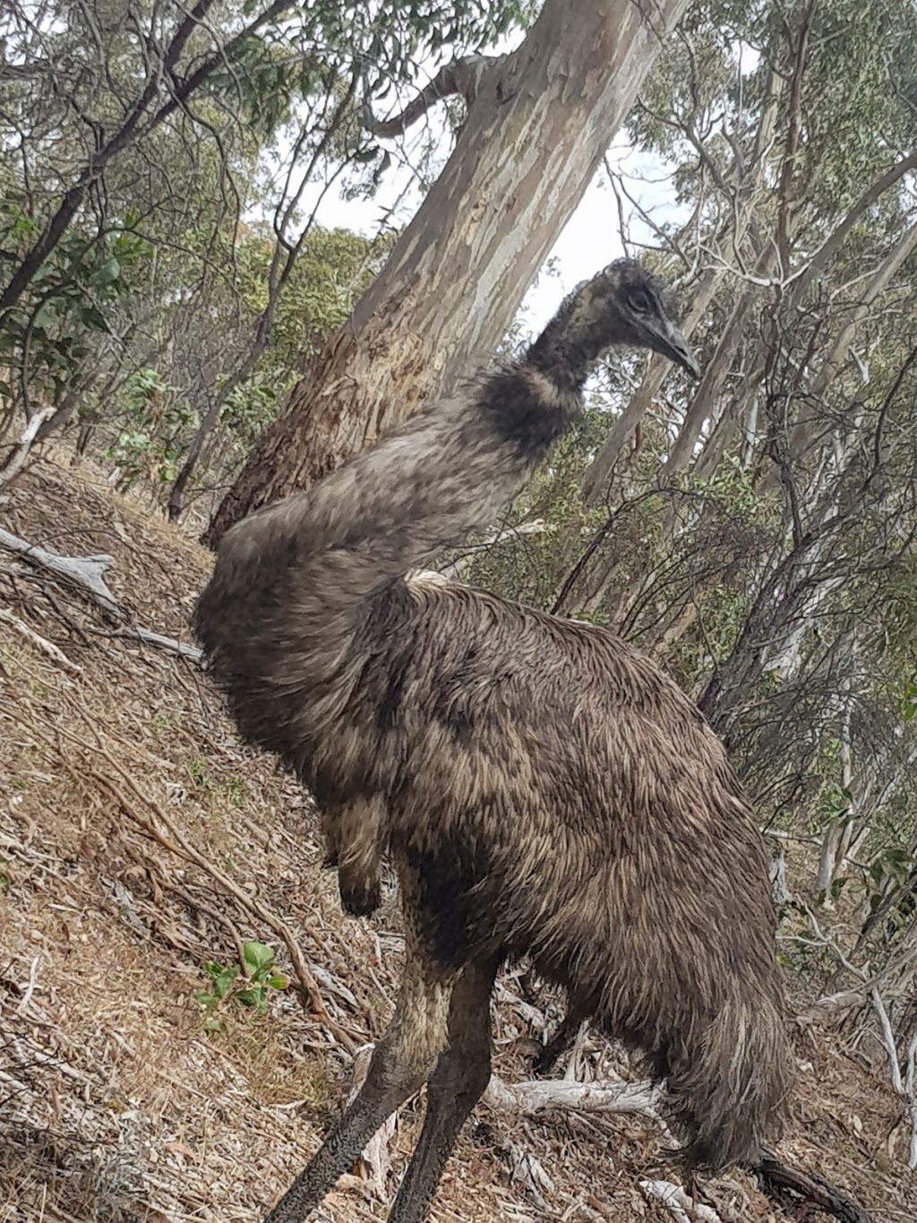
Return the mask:
<path id="1" fill-rule="evenodd" d="M 251 510 L 333 471 L 487 361 L 686 6 L 545 0 L 511 55 L 450 65 L 401 122 L 374 125 L 394 135 L 447 93 L 468 102 L 445 169 L 204 542 L 215 547 Z"/>

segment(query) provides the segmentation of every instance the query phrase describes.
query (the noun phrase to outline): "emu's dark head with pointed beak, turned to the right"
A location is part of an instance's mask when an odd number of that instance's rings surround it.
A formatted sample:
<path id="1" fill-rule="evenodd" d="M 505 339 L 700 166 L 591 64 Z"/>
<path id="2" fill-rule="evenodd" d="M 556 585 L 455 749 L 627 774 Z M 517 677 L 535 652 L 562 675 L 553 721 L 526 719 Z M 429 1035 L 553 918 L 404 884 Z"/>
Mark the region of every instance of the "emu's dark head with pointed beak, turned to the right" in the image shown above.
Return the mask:
<path id="1" fill-rule="evenodd" d="M 582 329 L 584 346 L 611 344 L 652 349 L 694 377 L 701 368 L 677 327 L 675 297 L 636 259 L 617 259 L 571 295 L 569 325 Z"/>

